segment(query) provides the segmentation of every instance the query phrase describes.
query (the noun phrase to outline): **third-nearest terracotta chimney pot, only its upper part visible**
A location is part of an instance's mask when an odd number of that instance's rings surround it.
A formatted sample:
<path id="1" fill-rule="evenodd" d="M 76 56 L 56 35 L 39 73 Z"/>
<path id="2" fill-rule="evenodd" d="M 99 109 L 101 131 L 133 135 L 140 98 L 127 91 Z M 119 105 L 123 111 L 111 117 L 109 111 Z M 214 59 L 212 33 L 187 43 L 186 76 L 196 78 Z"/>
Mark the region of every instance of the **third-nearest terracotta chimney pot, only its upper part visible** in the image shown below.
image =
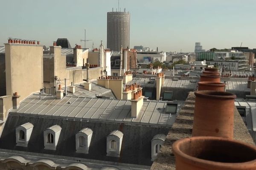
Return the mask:
<path id="1" fill-rule="evenodd" d="M 222 82 L 198 82 L 198 91 L 225 91 L 226 83 Z"/>

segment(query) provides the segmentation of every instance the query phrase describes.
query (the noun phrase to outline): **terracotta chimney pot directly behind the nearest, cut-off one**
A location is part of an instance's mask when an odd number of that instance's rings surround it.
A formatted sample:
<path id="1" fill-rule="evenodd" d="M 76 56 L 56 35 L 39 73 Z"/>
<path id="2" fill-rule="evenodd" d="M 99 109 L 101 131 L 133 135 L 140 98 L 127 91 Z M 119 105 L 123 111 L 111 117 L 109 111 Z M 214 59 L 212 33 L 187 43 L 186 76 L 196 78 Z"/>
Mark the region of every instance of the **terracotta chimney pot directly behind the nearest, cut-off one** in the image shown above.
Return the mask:
<path id="1" fill-rule="evenodd" d="M 192 136 L 217 136 L 233 139 L 234 100 L 223 91 L 195 92 Z"/>

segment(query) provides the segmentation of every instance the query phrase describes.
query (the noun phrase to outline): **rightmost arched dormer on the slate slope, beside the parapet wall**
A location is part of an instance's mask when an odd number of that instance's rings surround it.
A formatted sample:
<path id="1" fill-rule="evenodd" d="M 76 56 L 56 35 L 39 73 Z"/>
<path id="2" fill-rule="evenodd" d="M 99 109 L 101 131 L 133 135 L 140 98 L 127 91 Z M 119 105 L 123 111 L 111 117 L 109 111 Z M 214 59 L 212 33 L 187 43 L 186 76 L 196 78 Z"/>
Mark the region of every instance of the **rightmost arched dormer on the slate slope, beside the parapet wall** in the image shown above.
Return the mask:
<path id="1" fill-rule="evenodd" d="M 156 159 L 157 153 L 159 153 L 165 139 L 166 136 L 164 134 L 157 134 L 151 140 L 151 161 Z"/>

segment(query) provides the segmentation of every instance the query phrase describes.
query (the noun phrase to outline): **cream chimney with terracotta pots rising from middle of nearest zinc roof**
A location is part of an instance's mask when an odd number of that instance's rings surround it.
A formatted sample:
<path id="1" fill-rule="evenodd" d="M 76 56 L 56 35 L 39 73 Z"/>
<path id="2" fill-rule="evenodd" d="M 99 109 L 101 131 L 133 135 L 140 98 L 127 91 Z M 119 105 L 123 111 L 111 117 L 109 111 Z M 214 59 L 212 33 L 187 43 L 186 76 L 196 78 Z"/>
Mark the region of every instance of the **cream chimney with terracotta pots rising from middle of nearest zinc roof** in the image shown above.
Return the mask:
<path id="1" fill-rule="evenodd" d="M 140 109 L 143 106 L 142 90 L 134 93 L 133 99 L 131 100 L 131 117 L 137 118 L 140 113 Z"/>

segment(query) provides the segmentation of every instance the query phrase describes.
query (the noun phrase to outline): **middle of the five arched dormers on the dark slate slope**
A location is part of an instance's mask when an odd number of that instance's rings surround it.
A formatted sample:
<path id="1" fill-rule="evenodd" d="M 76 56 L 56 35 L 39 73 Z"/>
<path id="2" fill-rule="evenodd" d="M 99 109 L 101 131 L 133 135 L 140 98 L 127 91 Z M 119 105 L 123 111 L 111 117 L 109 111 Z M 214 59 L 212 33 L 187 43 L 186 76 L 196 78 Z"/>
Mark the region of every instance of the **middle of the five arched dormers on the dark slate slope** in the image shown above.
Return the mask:
<path id="1" fill-rule="evenodd" d="M 76 133 L 76 152 L 88 153 L 90 147 L 90 141 L 93 136 L 93 130 L 90 128 L 84 128 Z"/>

